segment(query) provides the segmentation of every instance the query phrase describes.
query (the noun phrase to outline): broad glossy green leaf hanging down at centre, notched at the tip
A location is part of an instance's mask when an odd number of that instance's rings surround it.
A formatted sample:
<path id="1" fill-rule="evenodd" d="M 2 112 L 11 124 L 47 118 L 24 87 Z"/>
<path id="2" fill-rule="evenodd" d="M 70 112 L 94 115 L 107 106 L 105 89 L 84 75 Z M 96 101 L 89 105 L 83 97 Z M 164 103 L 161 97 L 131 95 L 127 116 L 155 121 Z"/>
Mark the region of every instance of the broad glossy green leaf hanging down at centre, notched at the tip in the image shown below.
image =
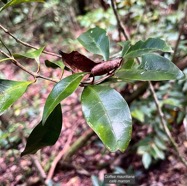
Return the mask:
<path id="1" fill-rule="evenodd" d="M 112 152 L 125 151 L 132 132 L 129 107 L 114 89 L 101 85 L 88 86 L 81 97 L 88 125 Z"/>

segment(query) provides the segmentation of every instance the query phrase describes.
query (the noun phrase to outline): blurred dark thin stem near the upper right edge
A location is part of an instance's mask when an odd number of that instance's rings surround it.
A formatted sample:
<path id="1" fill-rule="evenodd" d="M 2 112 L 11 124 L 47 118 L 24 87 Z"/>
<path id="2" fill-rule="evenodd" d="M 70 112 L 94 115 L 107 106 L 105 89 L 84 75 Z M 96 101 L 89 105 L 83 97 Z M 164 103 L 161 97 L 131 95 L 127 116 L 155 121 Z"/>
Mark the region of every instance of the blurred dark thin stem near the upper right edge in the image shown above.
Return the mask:
<path id="1" fill-rule="evenodd" d="M 174 48 L 174 53 L 173 53 L 173 58 L 172 58 L 172 61 L 173 61 L 173 62 L 175 62 L 177 50 L 178 50 L 179 43 L 180 43 L 180 40 L 181 40 L 181 35 L 182 35 L 183 32 L 184 32 L 184 25 L 185 25 L 185 23 L 187 22 L 187 5 L 186 5 L 186 8 L 185 8 L 185 15 L 184 15 L 184 18 L 182 19 L 181 22 L 182 22 L 182 23 L 181 23 L 181 27 L 180 27 L 180 30 L 179 30 L 179 35 L 178 35 L 177 42 L 176 42 L 175 48 Z"/>

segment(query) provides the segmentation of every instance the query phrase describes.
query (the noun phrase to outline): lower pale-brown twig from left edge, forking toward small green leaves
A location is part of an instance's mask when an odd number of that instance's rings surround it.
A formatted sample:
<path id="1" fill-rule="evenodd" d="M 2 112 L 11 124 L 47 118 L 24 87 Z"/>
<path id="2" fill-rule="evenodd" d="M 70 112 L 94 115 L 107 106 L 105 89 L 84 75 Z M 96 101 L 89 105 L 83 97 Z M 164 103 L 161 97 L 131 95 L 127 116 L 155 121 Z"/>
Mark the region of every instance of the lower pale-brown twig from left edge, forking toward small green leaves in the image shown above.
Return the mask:
<path id="1" fill-rule="evenodd" d="M 12 56 L 9 56 L 7 53 L 5 53 L 3 50 L 0 49 L 0 53 L 2 53 L 4 56 L 6 56 L 7 58 L 9 58 L 12 63 L 14 65 L 16 65 L 17 67 L 21 68 L 23 71 L 27 72 L 28 74 L 30 74 L 31 76 L 33 76 L 34 79 L 37 79 L 37 78 L 41 78 L 41 79 L 45 79 L 45 80 L 48 80 L 48 81 L 52 81 L 54 83 L 57 83 L 58 81 L 57 80 L 54 80 L 54 79 L 51 79 L 51 78 L 48 78 L 48 77 L 45 77 L 43 75 L 40 75 L 40 74 L 37 74 L 37 73 L 34 73 L 28 69 L 26 69 L 23 65 L 21 65 L 14 57 Z"/>

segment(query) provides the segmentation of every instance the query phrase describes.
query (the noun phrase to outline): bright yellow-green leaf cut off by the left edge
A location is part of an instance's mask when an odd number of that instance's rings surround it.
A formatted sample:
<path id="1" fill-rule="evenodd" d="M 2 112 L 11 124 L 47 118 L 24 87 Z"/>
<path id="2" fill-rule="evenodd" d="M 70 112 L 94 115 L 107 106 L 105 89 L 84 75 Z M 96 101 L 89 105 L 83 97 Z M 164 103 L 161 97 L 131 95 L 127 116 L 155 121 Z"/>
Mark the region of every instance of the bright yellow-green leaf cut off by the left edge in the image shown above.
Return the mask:
<path id="1" fill-rule="evenodd" d="M 0 79 L 0 115 L 25 93 L 30 83 Z"/>

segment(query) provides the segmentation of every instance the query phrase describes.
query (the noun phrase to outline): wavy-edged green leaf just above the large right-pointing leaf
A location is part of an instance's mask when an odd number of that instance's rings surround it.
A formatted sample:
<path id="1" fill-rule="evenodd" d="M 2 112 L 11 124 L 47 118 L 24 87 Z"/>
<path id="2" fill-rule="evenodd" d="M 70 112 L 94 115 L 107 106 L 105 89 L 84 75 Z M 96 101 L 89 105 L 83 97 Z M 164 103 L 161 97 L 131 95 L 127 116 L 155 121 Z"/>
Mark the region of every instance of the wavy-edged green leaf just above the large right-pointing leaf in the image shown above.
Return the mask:
<path id="1" fill-rule="evenodd" d="M 155 51 L 172 52 L 172 49 L 160 38 L 149 38 L 146 41 L 138 41 L 132 45 L 126 52 L 124 58 L 136 58 Z"/>

